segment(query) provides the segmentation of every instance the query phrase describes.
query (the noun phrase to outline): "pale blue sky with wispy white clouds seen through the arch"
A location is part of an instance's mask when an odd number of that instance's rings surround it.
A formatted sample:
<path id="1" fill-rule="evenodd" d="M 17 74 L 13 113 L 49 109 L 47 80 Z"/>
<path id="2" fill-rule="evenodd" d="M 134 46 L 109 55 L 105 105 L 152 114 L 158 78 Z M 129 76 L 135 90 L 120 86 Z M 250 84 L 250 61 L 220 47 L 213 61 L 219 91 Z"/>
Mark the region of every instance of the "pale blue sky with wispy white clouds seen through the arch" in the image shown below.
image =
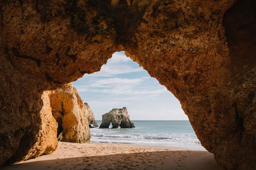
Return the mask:
<path id="1" fill-rule="evenodd" d="M 188 120 L 176 97 L 124 52 L 113 53 L 99 72 L 72 82 L 95 120 L 126 107 L 131 120 Z"/>

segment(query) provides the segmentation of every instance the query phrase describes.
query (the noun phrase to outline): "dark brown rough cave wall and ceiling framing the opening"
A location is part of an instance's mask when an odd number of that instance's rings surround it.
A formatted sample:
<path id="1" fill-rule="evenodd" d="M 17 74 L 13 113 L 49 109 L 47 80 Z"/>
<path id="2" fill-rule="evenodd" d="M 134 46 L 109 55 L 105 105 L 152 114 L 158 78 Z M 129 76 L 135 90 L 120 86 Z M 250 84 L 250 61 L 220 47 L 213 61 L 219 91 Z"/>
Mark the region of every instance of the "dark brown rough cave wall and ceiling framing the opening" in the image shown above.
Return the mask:
<path id="1" fill-rule="evenodd" d="M 255 8 L 251 0 L 1 1 L 0 164 L 42 138 L 44 90 L 124 50 L 179 99 L 221 167 L 256 169 Z"/>

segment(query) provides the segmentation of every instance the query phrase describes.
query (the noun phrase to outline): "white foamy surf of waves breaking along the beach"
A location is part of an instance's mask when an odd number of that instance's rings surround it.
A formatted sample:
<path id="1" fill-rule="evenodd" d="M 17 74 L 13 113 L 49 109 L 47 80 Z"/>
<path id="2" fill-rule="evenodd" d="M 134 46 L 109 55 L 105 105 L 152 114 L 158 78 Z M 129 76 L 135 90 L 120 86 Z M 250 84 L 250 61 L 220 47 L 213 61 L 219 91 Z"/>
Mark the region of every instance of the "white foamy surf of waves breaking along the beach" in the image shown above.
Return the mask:
<path id="1" fill-rule="evenodd" d="M 205 150 L 191 127 L 191 130 L 184 127 L 185 129 L 182 129 L 182 131 L 180 131 L 180 129 L 173 131 L 172 129 L 170 132 L 170 127 L 164 127 L 164 129 L 157 127 L 157 129 L 159 129 L 159 132 L 157 132 L 158 130 L 154 129 L 154 127 L 149 128 L 149 126 L 150 124 L 148 124 L 148 127 L 147 125 L 141 125 L 134 129 L 93 128 L 91 129 L 91 141 L 94 143 L 130 143 L 136 145 L 169 146 L 174 148 Z"/>

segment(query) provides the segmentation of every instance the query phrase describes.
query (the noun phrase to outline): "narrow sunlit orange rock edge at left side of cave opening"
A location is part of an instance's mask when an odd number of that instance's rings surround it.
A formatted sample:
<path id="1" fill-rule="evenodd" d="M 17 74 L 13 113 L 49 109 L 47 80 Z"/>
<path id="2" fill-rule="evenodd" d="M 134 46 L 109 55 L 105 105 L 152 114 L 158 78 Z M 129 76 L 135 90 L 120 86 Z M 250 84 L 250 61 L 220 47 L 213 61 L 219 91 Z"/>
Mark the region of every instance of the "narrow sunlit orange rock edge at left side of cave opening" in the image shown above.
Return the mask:
<path id="1" fill-rule="evenodd" d="M 8 160 L 8 163 L 19 162 L 21 160 L 27 160 L 33 157 L 39 157 L 40 155 L 50 154 L 56 150 L 58 146 L 58 140 L 56 138 L 58 124 L 56 123 L 56 120 L 52 117 L 52 108 L 50 104 L 49 93 L 50 91 L 45 91 L 40 97 L 40 99 L 42 100 L 42 106 L 40 107 L 41 110 L 39 111 L 39 120 L 41 120 L 42 122 L 39 122 L 37 127 L 37 136 L 39 136 L 40 138 L 34 139 L 34 142 L 31 145 L 31 143 L 26 143 L 26 141 L 31 138 L 29 134 L 26 134 L 21 139 L 20 143 L 23 148 L 19 148 L 16 151 L 15 155 L 13 155 L 12 158 Z M 15 126 L 15 124 L 13 124 L 13 126 Z M 17 132 L 15 134 L 15 137 L 19 138 L 19 135 L 20 134 Z M 10 146 L 12 145 L 13 143 L 10 143 Z M 27 152 L 25 154 L 22 153 L 24 149 L 27 149 Z M 3 157 L 4 153 L 0 154 L 1 157 Z"/>

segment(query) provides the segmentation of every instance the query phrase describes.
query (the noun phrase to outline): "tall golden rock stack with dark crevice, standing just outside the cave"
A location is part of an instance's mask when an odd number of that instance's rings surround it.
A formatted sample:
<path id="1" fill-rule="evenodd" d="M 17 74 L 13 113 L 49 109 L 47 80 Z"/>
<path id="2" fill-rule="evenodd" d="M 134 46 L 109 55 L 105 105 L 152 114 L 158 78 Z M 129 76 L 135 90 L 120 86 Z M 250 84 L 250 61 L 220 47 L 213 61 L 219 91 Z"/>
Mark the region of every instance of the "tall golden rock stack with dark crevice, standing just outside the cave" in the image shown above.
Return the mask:
<path id="1" fill-rule="evenodd" d="M 91 134 L 86 106 L 71 83 L 49 94 L 52 115 L 58 122 L 58 139 L 73 143 L 90 141 Z"/>

